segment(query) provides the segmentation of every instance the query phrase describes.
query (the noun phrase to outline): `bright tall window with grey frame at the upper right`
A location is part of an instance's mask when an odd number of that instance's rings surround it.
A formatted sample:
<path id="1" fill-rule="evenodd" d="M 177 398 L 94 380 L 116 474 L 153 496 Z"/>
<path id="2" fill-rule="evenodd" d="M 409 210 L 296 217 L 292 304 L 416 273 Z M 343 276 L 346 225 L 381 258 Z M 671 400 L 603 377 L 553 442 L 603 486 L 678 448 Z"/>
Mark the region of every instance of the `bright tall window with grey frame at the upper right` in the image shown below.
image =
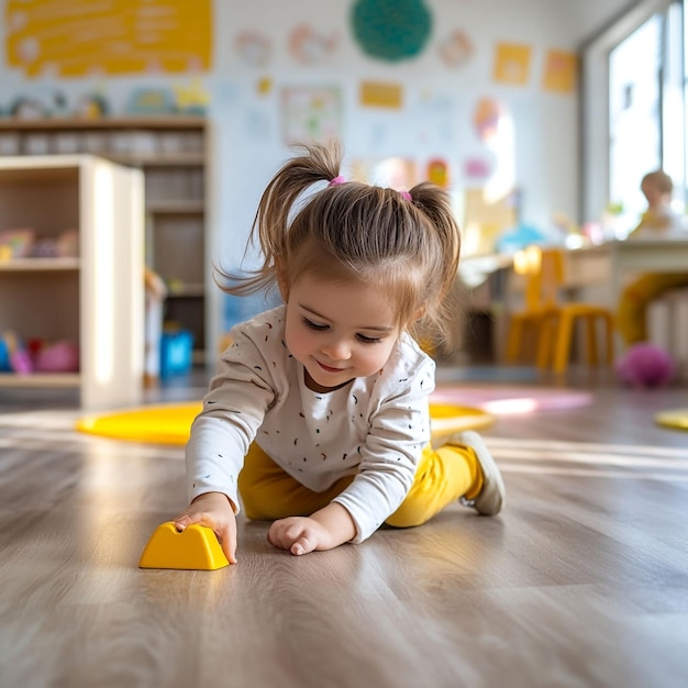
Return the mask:
<path id="1" fill-rule="evenodd" d="M 623 208 L 607 238 L 635 226 L 646 208 L 641 179 L 653 169 L 672 176 L 685 212 L 687 42 L 683 0 L 640 0 L 581 51 L 581 214 L 596 222 Z"/>

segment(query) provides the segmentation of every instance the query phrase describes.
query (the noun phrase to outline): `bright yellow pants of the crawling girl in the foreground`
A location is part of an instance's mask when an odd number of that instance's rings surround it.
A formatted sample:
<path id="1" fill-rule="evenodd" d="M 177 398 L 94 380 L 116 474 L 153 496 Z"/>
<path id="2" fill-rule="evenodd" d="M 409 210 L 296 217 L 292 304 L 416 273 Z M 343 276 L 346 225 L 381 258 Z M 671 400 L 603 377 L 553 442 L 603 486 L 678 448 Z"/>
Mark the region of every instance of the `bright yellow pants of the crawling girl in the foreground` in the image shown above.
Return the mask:
<path id="1" fill-rule="evenodd" d="M 238 491 L 247 518 L 274 521 L 310 515 L 329 504 L 353 479 L 354 476 L 346 476 L 324 492 L 313 492 L 285 473 L 254 443 L 238 476 Z M 420 525 L 459 497 L 473 499 L 481 489 L 482 473 L 471 448 L 428 446 L 409 493 L 386 523 L 395 528 Z"/>

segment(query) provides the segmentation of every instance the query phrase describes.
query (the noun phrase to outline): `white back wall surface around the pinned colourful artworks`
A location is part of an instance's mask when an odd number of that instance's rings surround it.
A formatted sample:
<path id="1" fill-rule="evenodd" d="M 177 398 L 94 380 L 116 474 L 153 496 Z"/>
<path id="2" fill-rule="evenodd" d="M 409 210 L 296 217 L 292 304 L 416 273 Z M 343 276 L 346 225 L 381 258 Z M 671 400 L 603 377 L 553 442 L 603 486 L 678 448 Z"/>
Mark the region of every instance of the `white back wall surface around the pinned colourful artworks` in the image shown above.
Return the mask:
<path id="1" fill-rule="evenodd" d="M 282 87 L 295 85 L 342 89 L 342 138 L 349 157 L 399 155 L 423 168 L 440 155 L 452 166 L 457 198 L 474 184 L 463 174 L 463 163 L 484 153 L 471 122 L 475 104 L 482 97 L 493 98 L 513 119 L 522 222 L 547 231 L 556 212 L 584 219 L 578 212 L 577 95 L 545 91 L 541 78 L 546 51 L 575 51 L 596 22 L 604 21 L 603 12 L 613 10 L 609 3 L 600 9 L 603 3 L 596 0 L 426 0 L 434 20 L 430 42 L 417 59 L 395 64 L 370 59 L 358 48 L 349 30 L 353 4 L 353 0 L 215 0 L 214 64 L 204 77 L 213 131 L 209 258 L 222 257 L 232 265 L 242 255 L 260 192 L 290 153 L 281 137 L 279 95 Z M 288 36 L 300 23 L 335 36 L 337 49 L 318 64 L 300 64 L 288 49 Z M 460 67 L 446 66 L 437 52 L 454 30 L 464 31 L 474 45 L 471 58 Z M 256 31 L 268 40 L 271 58 L 265 66 L 248 65 L 237 54 L 235 38 L 242 31 Z M 522 87 L 492 79 L 495 47 L 501 42 L 532 47 L 530 79 Z M 271 84 L 264 95 L 256 88 L 262 78 Z M 358 85 L 364 79 L 399 84 L 403 108 L 362 109 Z M 137 76 L 56 82 L 44 77 L 25 82 L 0 64 L 0 108 L 16 92 L 57 84 L 69 99 L 101 88 L 118 111 L 133 86 L 179 80 Z M 219 313 L 222 304 L 215 291 L 213 312 Z M 223 329 L 224 323 L 218 326 Z"/>

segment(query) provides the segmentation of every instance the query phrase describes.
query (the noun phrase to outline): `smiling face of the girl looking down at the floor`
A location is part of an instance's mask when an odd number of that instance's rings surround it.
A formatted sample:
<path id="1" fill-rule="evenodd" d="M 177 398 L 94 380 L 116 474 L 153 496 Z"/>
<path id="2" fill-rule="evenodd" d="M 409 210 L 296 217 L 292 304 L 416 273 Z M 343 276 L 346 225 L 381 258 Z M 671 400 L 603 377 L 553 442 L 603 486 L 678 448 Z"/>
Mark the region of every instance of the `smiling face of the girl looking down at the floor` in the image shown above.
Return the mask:
<path id="1" fill-rule="evenodd" d="M 389 298 L 358 281 L 303 275 L 282 295 L 286 340 L 315 391 L 375 375 L 387 363 L 400 330 Z"/>

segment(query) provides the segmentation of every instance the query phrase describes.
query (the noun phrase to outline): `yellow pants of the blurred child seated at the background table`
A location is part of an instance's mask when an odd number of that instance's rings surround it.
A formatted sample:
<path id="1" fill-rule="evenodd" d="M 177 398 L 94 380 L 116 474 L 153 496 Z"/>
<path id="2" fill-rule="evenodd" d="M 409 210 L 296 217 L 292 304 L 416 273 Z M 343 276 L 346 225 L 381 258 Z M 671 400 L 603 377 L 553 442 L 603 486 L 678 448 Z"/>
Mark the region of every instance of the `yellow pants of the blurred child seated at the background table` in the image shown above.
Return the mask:
<path id="1" fill-rule="evenodd" d="M 688 273 L 641 275 L 621 293 L 617 326 L 626 346 L 647 341 L 647 306 L 668 289 L 688 286 Z"/>

